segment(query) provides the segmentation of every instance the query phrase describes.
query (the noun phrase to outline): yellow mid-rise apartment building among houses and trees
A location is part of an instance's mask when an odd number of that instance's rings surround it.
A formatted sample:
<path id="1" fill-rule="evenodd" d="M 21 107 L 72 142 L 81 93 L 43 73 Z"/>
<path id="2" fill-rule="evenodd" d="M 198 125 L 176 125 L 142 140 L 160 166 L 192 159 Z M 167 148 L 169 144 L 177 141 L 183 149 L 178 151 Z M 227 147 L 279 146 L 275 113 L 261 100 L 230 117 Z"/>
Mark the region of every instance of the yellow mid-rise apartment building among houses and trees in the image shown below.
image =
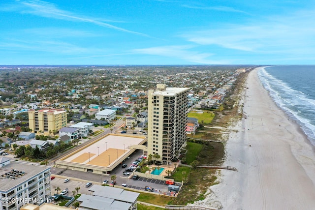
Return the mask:
<path id="1" fill-rule="evenodd" d="M 29 110 L 30 128 L 33 132 L 59 131 L 66 126 L 67 114 L 64 109 Z"/>

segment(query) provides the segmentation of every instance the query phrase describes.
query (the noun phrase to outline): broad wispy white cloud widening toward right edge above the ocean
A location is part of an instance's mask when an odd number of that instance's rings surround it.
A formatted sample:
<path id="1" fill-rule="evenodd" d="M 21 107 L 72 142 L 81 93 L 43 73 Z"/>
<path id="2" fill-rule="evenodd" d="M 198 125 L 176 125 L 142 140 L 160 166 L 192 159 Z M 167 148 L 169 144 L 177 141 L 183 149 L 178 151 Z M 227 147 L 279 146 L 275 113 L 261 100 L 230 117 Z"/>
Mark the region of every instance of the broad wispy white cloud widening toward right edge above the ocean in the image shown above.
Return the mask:
<path id="1" fill-rule="evenodd" d="M 315 47 L 315 11 L 300 11 L 290 16 L 249 20 L 243 25 L 221 24 L 216 29 L 185 32 L 181 37 L 199 45 L 214 45 L 261 54 L 312 53 Z M 210 28 L 210 27 L 209 27 Z"/>

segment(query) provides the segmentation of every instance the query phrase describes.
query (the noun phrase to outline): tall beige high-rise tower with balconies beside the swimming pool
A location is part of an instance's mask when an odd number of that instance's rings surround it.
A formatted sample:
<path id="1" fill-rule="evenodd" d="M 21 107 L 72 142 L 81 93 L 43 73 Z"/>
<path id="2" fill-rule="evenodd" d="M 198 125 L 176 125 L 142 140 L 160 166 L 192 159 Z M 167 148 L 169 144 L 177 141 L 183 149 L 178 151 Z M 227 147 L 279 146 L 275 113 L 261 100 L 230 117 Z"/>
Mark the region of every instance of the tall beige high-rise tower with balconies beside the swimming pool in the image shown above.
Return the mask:
<path id="1" fill-rule="evenodd" d="M 158 154 L 160 163 L 167 164 L 186 146 L 188 92 L 165 84 L 149 90 L 148 154 Z"/>

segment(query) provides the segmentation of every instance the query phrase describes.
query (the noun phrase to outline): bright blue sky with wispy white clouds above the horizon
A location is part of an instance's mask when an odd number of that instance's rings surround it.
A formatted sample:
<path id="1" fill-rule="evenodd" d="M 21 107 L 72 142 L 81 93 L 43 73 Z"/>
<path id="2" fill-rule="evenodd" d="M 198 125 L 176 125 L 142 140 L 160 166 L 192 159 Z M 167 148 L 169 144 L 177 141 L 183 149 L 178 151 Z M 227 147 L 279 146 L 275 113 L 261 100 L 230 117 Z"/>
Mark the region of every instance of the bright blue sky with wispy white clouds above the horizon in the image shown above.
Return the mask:
<path id="1" fill-rule="evenodd" d="M 315 64 L 314 0 L 1 0 L 0 64 Z"/>

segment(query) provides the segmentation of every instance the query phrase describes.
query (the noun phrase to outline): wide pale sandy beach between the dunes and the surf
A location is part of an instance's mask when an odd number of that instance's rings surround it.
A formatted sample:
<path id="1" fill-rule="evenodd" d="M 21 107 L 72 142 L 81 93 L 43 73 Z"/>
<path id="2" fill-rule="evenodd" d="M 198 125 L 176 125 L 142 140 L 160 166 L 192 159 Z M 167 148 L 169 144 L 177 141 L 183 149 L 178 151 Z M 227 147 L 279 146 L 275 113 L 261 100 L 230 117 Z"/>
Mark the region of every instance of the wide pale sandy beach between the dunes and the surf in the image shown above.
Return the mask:
<path id="1" fill-rule="evenodd" d="M 195 206 L 223 210 L 311 210 L 315 208 L 315 151 L 299 125 L 288 119 L 249 73 L 243 118 L 231 127 L 220 184 Z"/>

